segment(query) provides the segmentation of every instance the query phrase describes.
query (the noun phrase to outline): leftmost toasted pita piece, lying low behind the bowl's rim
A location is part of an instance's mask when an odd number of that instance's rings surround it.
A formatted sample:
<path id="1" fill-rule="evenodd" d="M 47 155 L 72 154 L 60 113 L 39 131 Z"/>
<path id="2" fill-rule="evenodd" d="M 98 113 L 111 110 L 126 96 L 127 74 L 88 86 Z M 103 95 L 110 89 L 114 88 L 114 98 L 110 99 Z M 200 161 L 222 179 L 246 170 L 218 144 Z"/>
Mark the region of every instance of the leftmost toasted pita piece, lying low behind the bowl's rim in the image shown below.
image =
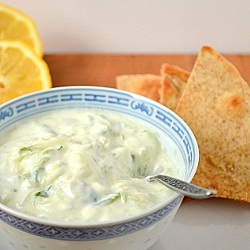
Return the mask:
<path id="1" fill-rule="evenodd" d="M 120 75 L 116 77 L 116 87 L 159 101 L 160 79 L 153 74 Z"/>

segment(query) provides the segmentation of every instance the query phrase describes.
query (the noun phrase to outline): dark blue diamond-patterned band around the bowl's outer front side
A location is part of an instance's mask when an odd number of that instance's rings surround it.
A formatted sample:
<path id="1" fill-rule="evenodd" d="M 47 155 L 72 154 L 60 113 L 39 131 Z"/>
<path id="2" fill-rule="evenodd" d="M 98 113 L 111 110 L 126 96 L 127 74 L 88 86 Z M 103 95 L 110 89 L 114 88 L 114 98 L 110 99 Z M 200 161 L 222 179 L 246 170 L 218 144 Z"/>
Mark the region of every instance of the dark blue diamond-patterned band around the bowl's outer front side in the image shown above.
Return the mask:
<path id="1" fill-rule="evenodd" d="M 180 206 L 182 199 L 183 196 L 179 195 L 171 203 L 154 213 L 140 218 L 133 218 L 126 222 L 115 223 L 112 225 L 98 224 L 96 226 L 83 225 L 80 227 L 46 225 L 44 223 L 41 224 L 38 222 L 30 222 L 29 220 L 25 220 L 14 215 L 8 214 L 2 211 L 1 209 L 0 220 L 26 233 L 54 240 L 105 240 L 135 233 L 137 231 L 148 228 L 151 225 L 154 225 L 171 212 L 175 213 L 178 207 Z"/>

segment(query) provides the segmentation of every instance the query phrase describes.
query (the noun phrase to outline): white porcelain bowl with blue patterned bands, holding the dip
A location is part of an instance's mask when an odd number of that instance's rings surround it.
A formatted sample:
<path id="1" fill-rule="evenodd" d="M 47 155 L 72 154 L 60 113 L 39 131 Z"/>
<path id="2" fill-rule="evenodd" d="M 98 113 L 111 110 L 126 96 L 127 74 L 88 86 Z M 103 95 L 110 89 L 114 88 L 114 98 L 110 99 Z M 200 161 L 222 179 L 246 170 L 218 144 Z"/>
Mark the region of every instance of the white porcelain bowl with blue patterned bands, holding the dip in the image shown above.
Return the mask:
<path id="1" fill-rule="evenodd" d="M 100 109 L 126 115 L 163 134 L 168 156 L 182 179 L 191 182 L 199 151 L 196 139 L 174 112 L 145 97 L 105 87 L 60 87 L 34 92 L 0 107 L 0 136 L 5 129 L 28 117 L 69 108 Z M 139 138 L 138 138 L 139 139 Z M 103 222 L 43 219 L 0 204 L 0 235 L 9 249 L 145 250 L 173 220 L 183 195 L 173 192 L 149 209 L 125 218 Z"/>

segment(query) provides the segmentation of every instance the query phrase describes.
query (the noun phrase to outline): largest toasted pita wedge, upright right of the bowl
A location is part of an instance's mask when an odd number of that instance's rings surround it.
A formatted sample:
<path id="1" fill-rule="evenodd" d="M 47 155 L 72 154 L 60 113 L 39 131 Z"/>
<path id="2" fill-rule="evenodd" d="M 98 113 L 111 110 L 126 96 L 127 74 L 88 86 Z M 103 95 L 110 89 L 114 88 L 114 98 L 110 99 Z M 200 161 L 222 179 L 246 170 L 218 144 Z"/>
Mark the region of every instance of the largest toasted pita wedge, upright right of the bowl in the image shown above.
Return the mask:
<path id="1" fill-rule="evenodd" d="M 237 69 L 203 47 L 177 106 L 200 149 L 195 184 L 250 202 L 250 88 Z"/>

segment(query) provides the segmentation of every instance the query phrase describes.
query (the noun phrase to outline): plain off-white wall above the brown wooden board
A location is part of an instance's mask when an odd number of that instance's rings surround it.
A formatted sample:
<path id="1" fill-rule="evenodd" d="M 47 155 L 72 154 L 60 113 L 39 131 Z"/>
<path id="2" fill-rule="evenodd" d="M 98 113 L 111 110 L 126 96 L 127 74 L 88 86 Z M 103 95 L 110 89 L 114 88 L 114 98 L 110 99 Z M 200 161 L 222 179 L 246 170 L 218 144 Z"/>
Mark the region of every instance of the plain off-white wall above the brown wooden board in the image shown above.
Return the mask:
<path id="1" fill-rule="evenodd" d="M 46 53 L 250 53 L 248 0 L 5 0 L 31 16 Z"/>

